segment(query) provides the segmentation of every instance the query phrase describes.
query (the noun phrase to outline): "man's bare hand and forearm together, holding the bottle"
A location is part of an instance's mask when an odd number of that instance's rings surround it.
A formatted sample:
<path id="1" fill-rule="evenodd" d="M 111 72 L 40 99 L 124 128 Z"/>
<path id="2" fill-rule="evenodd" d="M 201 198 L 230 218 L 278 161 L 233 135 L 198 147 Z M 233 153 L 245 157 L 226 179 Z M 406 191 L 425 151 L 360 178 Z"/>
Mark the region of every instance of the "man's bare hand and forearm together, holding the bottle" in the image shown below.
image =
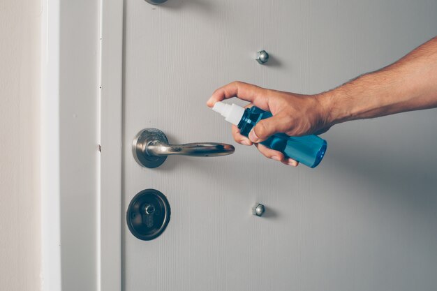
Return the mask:
<path id="1" fill-rule="evenodd" d="M 394 64 L 330 91 L 302 95 L 236 81 L 216 89 L 207 105 L 233 97 L 273 114 L 254 126 L 249 139 L 232 125 L 235 141 L 254 144 L 267 158 L 297 166 L 297 161 L 258 143 L 275 133 L 320 134 L 345 121 L 437 107 L 437 36 Z"/>

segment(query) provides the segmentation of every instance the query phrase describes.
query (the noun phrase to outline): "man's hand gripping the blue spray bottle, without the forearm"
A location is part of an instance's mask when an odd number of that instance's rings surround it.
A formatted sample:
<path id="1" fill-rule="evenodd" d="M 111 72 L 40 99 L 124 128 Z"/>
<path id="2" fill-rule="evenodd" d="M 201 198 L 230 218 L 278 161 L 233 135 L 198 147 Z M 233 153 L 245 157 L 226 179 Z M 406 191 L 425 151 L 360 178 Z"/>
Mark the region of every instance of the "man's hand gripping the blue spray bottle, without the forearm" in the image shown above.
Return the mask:
<path id="1" fill-rule="evenodd" d="M 273 117 L 262 119 L 256 124 L 249 133 L 249 139 L 239 133 L 237 126 L 232 125 L 235 141 L 239 144 L 255 144 L 261 154 L 286 165 L 297 166 L 298 163 L 291 158 L 286 158 L 280 151 L 274 151 L 258 143 L 267 140 L 275 133 L 299 136 L 319 134 L 329 129 L 322 95 L 292 94 L 264 89 L 244 82 L 232 82 L 214 91 L 207 105 L 213 107 L 216 102 L 232 97 L 249 101 L 251 105 L 273 114 Z"/>

